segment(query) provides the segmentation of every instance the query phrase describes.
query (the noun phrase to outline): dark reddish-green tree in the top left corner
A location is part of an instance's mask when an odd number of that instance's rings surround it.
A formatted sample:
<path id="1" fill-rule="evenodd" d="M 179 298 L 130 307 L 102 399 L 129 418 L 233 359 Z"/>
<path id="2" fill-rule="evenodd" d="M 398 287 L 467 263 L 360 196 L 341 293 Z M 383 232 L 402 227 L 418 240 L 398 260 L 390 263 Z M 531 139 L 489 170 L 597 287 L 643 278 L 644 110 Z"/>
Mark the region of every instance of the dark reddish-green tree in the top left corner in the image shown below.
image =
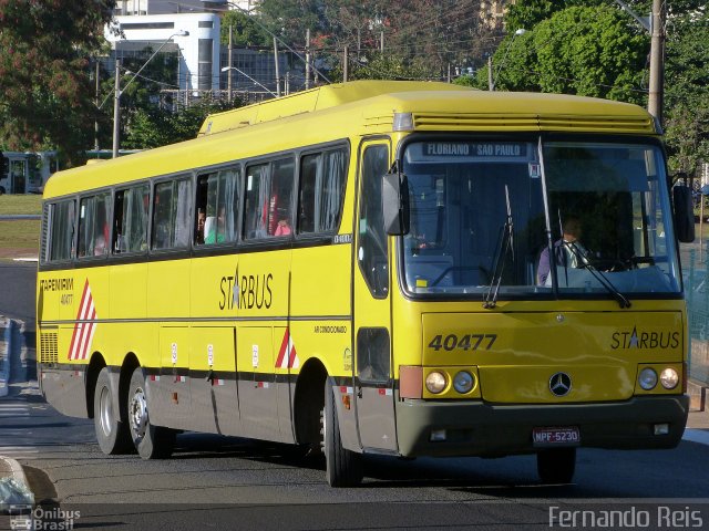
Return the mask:
<path id="1" fill-rule="evenodd" d="M 70 160 L 92 144 L 90 58 L 115 0 L 0 1 L 0 131 L 6 148 L 55 147 Z"/>

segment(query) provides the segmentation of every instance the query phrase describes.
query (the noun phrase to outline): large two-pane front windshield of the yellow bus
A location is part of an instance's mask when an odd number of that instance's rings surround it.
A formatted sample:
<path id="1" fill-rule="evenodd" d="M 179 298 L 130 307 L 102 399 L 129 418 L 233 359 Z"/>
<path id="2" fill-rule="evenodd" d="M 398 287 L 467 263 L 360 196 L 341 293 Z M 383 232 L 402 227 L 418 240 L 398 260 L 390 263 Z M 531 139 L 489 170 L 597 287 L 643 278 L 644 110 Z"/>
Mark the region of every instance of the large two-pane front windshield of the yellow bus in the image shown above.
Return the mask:
<path id="1" fill-rule="evenodd" d="M 680 291 L 665 164 L 654 144 L 412 142 L 403 170 L 410 294 Z"/>

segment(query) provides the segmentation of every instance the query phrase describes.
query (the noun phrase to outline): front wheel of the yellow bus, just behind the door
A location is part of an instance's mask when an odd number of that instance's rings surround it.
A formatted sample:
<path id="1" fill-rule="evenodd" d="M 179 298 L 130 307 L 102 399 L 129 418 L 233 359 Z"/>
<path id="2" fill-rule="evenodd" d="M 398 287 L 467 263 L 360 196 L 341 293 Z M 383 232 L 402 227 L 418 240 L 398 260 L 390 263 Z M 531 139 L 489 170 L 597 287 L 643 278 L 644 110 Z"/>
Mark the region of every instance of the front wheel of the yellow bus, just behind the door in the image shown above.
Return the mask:
<path id="1" fill-rule="evenodd" d="M 325 382 L 321 414 L 325 473 L 330 487 L 356 487 L 362 481 L 362 455 L 342 447 L 332 386 Z"/>

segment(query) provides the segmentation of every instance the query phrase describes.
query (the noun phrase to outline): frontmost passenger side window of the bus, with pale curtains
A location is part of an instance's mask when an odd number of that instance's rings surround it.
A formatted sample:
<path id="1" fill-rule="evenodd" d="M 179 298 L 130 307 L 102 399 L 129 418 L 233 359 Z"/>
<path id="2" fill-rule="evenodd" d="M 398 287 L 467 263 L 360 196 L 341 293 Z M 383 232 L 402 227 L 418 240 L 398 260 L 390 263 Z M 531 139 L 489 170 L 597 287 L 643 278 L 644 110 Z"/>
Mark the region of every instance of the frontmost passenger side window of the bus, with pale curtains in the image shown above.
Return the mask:
<path id="1" fill-rule="evenodd" d="M 347 152 L 306 155 L 300 162 L 298 232 L 331 232 L 340 222 L 345 198 Z"/>

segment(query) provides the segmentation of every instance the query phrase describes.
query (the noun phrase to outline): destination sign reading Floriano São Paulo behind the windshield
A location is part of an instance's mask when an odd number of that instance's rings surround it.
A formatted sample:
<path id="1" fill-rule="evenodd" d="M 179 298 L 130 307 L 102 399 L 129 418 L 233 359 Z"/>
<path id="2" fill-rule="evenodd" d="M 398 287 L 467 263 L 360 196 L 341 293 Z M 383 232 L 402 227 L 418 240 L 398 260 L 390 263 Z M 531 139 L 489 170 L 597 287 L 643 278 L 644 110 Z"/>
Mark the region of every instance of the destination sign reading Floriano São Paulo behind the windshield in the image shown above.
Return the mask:
<path id="1" fill-rule="evenodd" d="M 532 153 L 526 142 L 421 142 L 407 148 L 411 162 L 442 158 L 528 160 Z"/>

